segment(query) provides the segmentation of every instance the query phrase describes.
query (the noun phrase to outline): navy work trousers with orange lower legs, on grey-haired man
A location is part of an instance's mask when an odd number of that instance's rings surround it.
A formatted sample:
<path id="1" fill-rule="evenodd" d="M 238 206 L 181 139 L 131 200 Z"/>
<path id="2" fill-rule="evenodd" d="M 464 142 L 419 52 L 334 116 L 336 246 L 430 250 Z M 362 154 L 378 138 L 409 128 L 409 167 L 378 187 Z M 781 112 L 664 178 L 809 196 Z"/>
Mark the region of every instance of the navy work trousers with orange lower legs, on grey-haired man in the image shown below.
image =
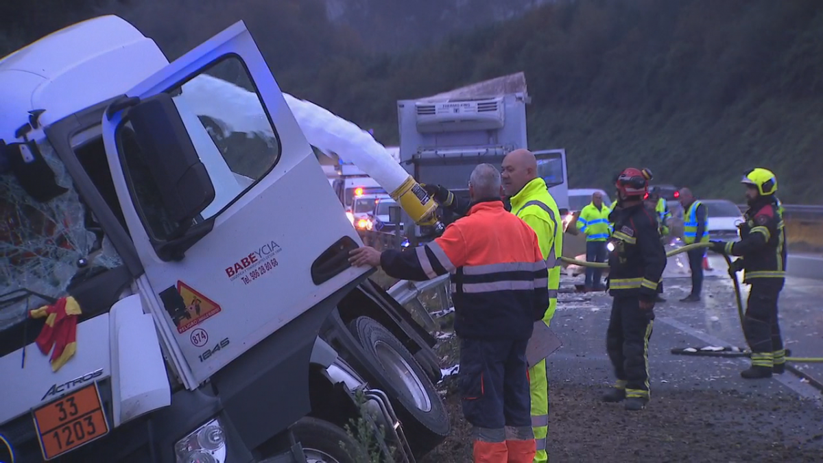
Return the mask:
<path id="1" fill-rule="evenodd" d="M 476 463 L 532 463 L 528 339 L 460 340 L 458 384 Z"/>

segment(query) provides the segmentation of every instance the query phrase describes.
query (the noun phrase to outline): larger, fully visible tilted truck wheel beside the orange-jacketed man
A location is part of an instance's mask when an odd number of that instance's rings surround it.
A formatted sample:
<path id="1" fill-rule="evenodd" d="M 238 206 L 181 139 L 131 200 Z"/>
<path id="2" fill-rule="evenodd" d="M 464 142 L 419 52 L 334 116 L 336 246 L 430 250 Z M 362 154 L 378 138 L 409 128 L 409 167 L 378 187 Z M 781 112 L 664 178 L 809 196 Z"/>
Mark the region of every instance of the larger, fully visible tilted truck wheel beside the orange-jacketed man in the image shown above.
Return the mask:
<path id="1" fill-rule="evenodd" d="M 449 435 L 449 414 L 420 364 L 377 320 L 360 316 L 351 320 L 349 330 L 382 373 L 374 386 L 391 386 L 396 391 L 384 390 L 415 456 L 437 447 Z"/>

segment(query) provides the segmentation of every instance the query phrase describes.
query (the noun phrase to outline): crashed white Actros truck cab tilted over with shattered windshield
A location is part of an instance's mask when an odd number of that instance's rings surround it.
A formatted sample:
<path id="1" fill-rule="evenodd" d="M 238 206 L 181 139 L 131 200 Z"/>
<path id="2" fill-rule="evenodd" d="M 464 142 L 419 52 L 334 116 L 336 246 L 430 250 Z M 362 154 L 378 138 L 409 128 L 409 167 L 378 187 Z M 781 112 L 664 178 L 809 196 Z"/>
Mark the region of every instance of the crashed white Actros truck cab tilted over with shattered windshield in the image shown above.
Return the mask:
<path id="1" fill-rule="evenodd" d="M 387 459 L 449 433 L 434 339 L 349 266 L 361 241 L 242 22 L 173 63 L 116 16 L 59 30 L 0 60 L 0 111 L 16 461 L 348 461 L 357 390 Z M 295 196 L 322 226 L 277 220 Z M 67 296 L 53 371 L 29 311 Z"/>

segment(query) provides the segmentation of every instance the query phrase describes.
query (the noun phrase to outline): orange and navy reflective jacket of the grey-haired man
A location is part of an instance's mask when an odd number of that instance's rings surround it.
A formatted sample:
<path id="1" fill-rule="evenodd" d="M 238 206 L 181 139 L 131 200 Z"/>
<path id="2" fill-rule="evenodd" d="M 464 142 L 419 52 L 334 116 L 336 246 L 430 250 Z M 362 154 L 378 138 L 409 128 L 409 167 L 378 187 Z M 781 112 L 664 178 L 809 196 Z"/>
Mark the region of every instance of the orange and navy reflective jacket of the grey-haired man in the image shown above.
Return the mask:
<path id="1" fill-rule="evenodd" d="M 424 246 L 385 250 L 380 266 L 416 281 L 451 274 L 454 332 L 463 339 L 528 339 L 549 305 L 537 236 L 500 199 L 473 204 Z"/>

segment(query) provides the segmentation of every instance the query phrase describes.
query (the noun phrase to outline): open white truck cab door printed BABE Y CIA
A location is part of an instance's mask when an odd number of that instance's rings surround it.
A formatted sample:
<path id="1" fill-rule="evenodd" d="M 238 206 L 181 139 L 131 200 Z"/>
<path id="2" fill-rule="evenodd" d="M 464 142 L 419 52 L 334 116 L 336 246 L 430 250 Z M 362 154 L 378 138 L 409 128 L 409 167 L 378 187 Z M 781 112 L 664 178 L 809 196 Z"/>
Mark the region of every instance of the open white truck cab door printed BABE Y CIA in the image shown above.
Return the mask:
<path id="1" fill-rule="evenodd" d="M 242 21 L 110 105 L 103 134 L 138 285 L 189 389 L 365 278 L 347 261 L 361 241 Z"/>

